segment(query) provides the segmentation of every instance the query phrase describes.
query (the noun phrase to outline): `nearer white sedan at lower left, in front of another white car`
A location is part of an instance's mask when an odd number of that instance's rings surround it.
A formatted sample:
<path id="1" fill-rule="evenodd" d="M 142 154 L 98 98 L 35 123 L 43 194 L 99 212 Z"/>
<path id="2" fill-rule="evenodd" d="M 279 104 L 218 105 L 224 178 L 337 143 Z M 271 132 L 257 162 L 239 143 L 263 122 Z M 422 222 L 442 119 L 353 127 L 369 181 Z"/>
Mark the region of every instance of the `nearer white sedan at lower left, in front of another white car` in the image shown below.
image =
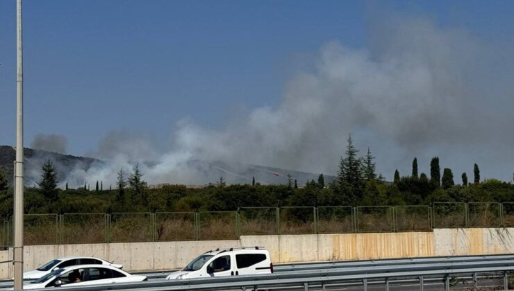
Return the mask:
<path id="1" fill-rule="evenodd" d="M 110 265 L 74 265 L 53 270 L 40 279 L 24 284 L 23 288 L 25 290 L 141 281 L 147 281 L 147 277 L 131 275 Z"/>

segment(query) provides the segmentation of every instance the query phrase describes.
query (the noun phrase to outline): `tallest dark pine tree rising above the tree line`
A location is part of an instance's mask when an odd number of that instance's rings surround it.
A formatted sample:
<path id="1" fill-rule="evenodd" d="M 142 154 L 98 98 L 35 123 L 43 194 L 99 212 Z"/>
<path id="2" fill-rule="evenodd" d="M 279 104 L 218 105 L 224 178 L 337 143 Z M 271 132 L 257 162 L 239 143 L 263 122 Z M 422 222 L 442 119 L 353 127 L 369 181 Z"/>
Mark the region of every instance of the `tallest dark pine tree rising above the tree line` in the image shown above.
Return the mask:
<path id="1" fill-rule="evenodd" d="M 357 157 L 358 150 L 354 146 L 351 135 L 348 135 L 346 157 L 339 163 L 338 187 L 346 195 L 346 203 L 355 205 L 363 197 L 364 180 L 362 173 L 362 160 Z"/>

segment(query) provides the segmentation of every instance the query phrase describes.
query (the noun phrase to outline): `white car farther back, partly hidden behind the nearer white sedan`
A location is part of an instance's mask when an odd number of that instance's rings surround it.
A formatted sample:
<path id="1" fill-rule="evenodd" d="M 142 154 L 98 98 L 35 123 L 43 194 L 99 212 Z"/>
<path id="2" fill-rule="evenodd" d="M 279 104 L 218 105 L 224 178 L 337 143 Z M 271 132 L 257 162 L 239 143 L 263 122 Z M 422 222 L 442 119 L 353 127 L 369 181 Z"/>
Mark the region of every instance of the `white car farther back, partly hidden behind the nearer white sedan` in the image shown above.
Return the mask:
<path id="1" fill-rule="evenodd" d="M 56 258 L 55 260 L 49 261 L 48 263 L 38 267 L 33 271 L 23 273 L 24 280 L 40 279 L 42 276 L 49 274 L 53 270 L 60 269 L 63 267 L 69 267 L 74 265 L 110 265 L 121 269 L 123 265 L 110 263 L 102 260 L 101 258 L 92 258 L 86 256 L 70 256 L 67 258 Z"/>

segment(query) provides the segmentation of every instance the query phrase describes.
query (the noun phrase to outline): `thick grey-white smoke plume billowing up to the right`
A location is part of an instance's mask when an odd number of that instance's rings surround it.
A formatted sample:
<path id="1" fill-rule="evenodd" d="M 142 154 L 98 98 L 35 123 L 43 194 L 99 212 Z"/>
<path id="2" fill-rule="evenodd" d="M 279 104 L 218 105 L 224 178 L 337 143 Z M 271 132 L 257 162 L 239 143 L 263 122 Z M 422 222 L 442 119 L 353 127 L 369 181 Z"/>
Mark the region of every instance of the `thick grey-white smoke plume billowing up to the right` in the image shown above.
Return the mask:
<path id="1" fill-rule="evenodd" d="M 278 107 L 254 109 L 224 130 L 181 121 L 163 155 L 147 139 L 107 136 L 97 156 L 113 159 L 113 168 L 82 176 L 114 181 L 113 169 L 149 160 L 156 163 L 142 167 L 152 184 L 213 182 L 192 160 L 334 174 L 351 133 L 361 153 L 370 146 L 388 179 L 395 168 L 407 174 L 415 156 L 428 172 L 435 155 L 455 177 L 470 176 L 476 162 L 489 173 L 483 177 L 511 179 L 514 84 L 501 77 L 514 73 L 510 49 L 405 17 L 371 23 L 369 43 L 360 49 L 324 44 L 316 67 L 288 82 Z"/>

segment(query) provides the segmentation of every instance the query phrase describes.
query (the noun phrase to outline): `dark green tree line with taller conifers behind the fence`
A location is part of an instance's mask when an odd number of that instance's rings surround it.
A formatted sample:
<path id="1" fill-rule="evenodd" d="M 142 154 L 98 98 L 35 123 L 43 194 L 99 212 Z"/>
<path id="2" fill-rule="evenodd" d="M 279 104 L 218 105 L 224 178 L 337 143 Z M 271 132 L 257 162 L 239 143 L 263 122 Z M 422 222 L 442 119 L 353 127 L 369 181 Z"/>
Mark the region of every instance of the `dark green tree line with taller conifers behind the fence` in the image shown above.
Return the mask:
<path id="1" fill-rule="evenodd" d="M 25 190 L 26 213 L 98 213 L 144 211 L 233 211 L 238 207 L 276 206 L 380 206 L 429 205 L 432 202 L 514 202 L 514 185 L 497 179 L 481 181 L 480 170 L 474 164 L 473 182 L 462 173 L 461 184 L 455 182 L 450 168 L 443 168 L 433 157 L 430 177 L 419 173 L 417 158 L 413 159 L 411 175 L 400 177 L 395 170 L 392 182 L 386 182 L 376 173 L 370 148 L 362 157 L 351 136 L 347 139 L 345 155 L 339 161 L 335 179 L 326 183 L 324 175 L 305 182 L 299 187 L 294 177 L 288 175 L 286 184 L 227 185 L 220 177 L 215 184 L 204 188 L 187 188 L 167 185 L 149 188 L 138 164 L 131 173 L 120 169 L 113 189 L 103 189 L 97 181 L 91 191 L 89 184 L 76 189 L 57 188 L 58 177 L 51 161 L 42 167 L 40 182 Z M 13 189 L 9 187 L 6 173 L 0 169 L 0 217 L 12 215 Z"/>

